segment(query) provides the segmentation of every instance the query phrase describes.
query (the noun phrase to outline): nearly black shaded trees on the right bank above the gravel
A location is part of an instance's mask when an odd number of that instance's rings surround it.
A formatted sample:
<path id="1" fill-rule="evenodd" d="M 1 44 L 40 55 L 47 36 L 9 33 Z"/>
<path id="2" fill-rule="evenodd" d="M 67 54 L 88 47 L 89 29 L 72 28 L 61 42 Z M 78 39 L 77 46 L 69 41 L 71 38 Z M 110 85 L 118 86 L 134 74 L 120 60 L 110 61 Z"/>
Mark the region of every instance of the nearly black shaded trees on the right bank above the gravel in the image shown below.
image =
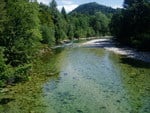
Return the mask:
<path id="1" fill-rule="evenodd" d="M 150 1 L 124 0 L 124 8 L 113 15 L 110 29 L 121 43 L 150 50 Z"/>

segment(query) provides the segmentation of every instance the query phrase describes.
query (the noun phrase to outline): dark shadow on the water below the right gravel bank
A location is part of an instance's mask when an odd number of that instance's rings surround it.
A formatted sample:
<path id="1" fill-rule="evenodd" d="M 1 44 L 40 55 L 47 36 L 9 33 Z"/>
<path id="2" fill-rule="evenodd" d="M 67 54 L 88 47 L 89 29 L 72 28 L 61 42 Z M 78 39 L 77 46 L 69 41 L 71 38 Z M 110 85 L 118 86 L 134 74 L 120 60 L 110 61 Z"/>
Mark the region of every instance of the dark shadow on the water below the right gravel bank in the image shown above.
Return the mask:
<path id="1" fill-rule="evenodd" d="M 147 68 L 150 69 L 150 63 L 147 62 L 143 62 L 137 59 L 133 59 L 133 58 L 126 58 L 126 57 L 122 57 L 120 59 L 120 62 L 123 64 L 128 64 L 131 65 L 135 68 Z"/>

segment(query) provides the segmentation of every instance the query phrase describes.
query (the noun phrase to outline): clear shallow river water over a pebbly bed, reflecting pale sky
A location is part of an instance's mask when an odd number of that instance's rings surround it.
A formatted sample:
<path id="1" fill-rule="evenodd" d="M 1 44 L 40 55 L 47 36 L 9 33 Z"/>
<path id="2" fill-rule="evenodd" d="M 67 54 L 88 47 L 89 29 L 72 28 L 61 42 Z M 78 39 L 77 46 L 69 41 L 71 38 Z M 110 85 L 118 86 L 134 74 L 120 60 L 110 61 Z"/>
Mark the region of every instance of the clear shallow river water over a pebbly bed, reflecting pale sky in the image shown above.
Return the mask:
<path id="1" fill-rule="evenodd" d="M 56 56 L 59 74 L 42 80 L 38 92 L 34 85 L 30 95 L 15 86 L 18 96 L 0 104 L 2 113 L 150 113 L 150 64 L 100 48 L 68 48 Z"/>

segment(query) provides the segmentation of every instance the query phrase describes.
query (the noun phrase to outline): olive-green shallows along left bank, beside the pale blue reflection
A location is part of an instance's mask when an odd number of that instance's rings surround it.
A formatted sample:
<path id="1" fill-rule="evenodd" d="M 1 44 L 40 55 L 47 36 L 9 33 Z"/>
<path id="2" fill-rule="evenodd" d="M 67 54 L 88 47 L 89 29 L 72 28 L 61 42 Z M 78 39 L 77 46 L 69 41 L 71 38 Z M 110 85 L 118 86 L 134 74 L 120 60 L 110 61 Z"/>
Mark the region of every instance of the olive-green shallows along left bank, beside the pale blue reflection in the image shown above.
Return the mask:
<path id="1" fill-rule="evenodd" d="M 57 77 L 55 57 L 44 53 L 34 62 L 29 81 L 7 86 L 0 93 L 0 113 L 45 113 L 43 84 L 51 77 Z M 48 58 L 49 57 L 49 58 Z"/>

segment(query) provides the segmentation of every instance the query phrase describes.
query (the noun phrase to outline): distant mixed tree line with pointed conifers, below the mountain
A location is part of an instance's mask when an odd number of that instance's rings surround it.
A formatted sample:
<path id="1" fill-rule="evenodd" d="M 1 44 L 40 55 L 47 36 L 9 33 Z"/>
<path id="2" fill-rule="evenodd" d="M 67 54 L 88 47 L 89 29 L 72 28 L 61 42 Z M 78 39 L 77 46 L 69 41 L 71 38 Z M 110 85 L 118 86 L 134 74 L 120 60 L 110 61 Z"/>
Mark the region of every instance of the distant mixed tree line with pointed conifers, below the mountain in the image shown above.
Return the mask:
<path id="1" fill-rule="evenodd" d="M 110 15 L 101 12 L 69 13 L 65 8 L 59 12 L 55 0 L 49 6 L 40 3 L 41 30 L 43 43 L 59 44 L 61 40 L 85 38 L 109 34 Z M 90 10 L 90 9 L 89 9 Z M 49 19 L 49 20 L 48 20 Z"/>

